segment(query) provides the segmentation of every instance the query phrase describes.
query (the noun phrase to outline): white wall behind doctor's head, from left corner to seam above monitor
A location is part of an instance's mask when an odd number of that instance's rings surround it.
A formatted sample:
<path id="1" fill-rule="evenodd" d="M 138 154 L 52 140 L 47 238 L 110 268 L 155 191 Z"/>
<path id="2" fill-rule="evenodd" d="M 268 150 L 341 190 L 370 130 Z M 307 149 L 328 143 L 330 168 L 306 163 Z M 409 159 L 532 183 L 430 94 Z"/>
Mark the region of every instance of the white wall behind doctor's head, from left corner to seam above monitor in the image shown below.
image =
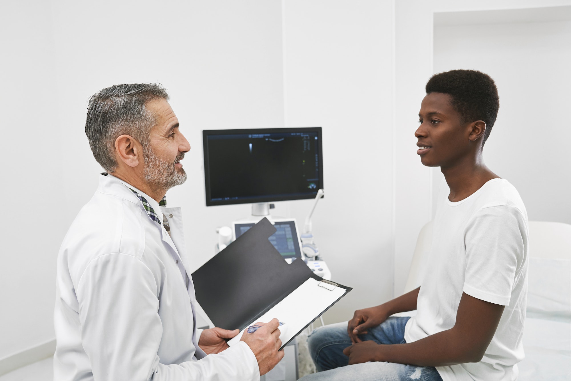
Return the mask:
<path id="1" fill-rule="evenodd" d="M 87 12 L 85 20 L 78 17 Z M 167 199 L 183 207 L 187 247 L 198 268 L 214 255 L 216 226 L 250 213 L 246 205 L 206 208 L 202 130 L 283 125 L 280 2 L 148 1 L 133 8 L 108 1 L 86 9 L 58 1 L 54 18 L 58 79 L 62 97 L 70 99 L 61 106 L 62 130 L 69 142 L 83 142 L 73 147 L 81 157 L 73 169 L 81 185 L 70 179 L 70 189 L 82 196 L 74 198 L 71 213 L 98 181 L 85 133 L 74 127 L 85 123 L 86 100 L 115 83 L 162 82 L 192 147 L 183 161 L 188 180 Z"/>

